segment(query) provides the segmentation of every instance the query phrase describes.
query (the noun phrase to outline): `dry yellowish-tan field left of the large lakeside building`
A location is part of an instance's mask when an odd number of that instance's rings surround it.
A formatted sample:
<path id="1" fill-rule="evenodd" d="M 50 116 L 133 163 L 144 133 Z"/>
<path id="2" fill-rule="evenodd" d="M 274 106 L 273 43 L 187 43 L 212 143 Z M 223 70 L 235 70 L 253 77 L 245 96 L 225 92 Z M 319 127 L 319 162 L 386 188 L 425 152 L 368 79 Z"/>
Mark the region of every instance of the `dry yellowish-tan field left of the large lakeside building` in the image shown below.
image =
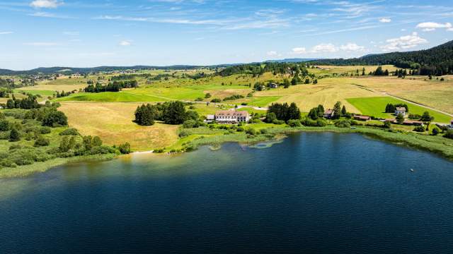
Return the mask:
<path id="1" fill-rule="evenodd" d="M 178 126 L 139 126 L 132 122 L 140 104 L 62 102 L 59 110 L 68 116 L 69 126 L 83 135 L 98 135 L 107 145 L 129 142 L 132 150 L 147 151 L 176 143 Z"/>

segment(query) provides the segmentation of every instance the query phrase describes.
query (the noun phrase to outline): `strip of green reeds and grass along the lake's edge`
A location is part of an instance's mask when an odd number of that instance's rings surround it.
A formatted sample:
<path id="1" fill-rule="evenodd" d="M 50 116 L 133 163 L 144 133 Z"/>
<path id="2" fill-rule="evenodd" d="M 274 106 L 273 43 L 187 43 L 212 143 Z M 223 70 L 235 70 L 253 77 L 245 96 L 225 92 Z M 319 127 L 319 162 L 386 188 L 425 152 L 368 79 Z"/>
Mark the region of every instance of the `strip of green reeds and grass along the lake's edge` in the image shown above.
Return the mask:
<path id="1" fill-rule="evenodd" d="M 268 128 L 268 134 L 259 134 L 252 137 L 248 137 L 246 133 L 234 133 L 229 135 L 212 135 L 207 138 L 195 138 L 191 140 L 188 144 L 191 145 L 192 150 L 183 151 L 192 152 L 197 150 L 199 147 L 209 145 L 211 147 L 216 147 L 216 149 L 221 149 L 223 143 L 238 143 L 239 145 L 253 145 L 258 143 L 268 143 L 268 142 L 278 142 L 287 138 L 288 134 L 292 133 L 311 133 L 311 132 L 332 132 L 332 133 L 357 133 L 361 135 L 369 136 L 370 138 L 375 138 L 380 141 L 389 142 L 394 145 L 403 145 L 410 148 L 415 148 L 423 150 L 425 152 L 432 152 L 436 155 L 453 161 L 453 142 L 451 144 L 442 143 L 440 138 L 444 139 L 441 136 L 428 136 L 420 135 L 415 133 L 403 133 L 403 132 L 390 132 L 380 128 L 372 127 L 363 127 L 356 126 L 356 128 L 338 128 L 336 126 L 325 126 L 325 127 L 277 127 L 277 128 Z M 444 140 L 447 141 L 447 140 Z M 447 141 L 448 143 L 449 141 Z M 164 153 L 155 153 L 154 150 L 149 151 L 137 151 L 132 152 L 130 155 L 172 155 L 174 153 L 164 152 Z M 71 164 L 77 162 L 92 162 L 92 161 L 106 161 L 110 159 L 116 159 L 122 157 L 123 155 L 89 155 L 83 157 L 70 157 L 70 158 L 57 158 L 51 159 L 46 162 L 36 162 L 34 164 L 20 166 L 16 168 L 4 168 L 0 169 L 0 179 L 11 179 L 11 178 L 20 178 L 30 176 L 31 174 L 45 172 L 55 167 L 62 166 L 64 164 Z"/>

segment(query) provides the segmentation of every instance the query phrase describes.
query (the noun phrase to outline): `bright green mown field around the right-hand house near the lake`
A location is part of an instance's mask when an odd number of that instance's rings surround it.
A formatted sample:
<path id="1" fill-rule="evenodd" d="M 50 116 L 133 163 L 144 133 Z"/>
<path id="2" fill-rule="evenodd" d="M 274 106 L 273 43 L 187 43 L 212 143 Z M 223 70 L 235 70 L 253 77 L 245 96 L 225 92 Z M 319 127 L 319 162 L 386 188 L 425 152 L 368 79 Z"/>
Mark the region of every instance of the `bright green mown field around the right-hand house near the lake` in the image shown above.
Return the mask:
<path id="1" fill-rule="evenodd" d="M 359 109 L 362 114 L 369 115 L 369 116 L 376 116 L 379 118 L 395 118 L 392 114 L 384 113 L 386 104 L 408 104 L 409 113 L 410 114 L 419 114 L 422 115 L 423 112 L 428 111 L 430 112 L 431 116 L 434 116 L 435 122 L 439 123 L 449 123 L 452 119 L 451 116 L 447 116 L 437 111 L 433 111 L 430 109 L 425 109 L 424 107 L 420 107 L 415 104 L 411 104 L 408 102 L 403 102 L 399 99 L 394 99 L 392 97 L 365 97 L 365 98 L 350 98 L 348 99 L 350 104 L 354 105 L 357 109 Z"/>

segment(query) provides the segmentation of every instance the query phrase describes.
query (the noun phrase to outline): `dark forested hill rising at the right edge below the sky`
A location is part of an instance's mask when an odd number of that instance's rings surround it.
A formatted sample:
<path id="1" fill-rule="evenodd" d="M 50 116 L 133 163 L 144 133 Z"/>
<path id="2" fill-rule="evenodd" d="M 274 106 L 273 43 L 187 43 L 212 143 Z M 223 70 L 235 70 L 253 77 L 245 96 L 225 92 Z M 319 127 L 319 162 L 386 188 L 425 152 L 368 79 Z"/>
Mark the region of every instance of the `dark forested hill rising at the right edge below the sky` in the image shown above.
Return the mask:
<path id="1" fill-rule="evenodd" d="M 331 65 L 384 65 L 418 70 L 420 75 L 453 74 L 453 41 L 431 49 L 413 52 L 391 52 L 369 54 L 355 59 L 322 59 L 310 61 L 313 64 Z"/>

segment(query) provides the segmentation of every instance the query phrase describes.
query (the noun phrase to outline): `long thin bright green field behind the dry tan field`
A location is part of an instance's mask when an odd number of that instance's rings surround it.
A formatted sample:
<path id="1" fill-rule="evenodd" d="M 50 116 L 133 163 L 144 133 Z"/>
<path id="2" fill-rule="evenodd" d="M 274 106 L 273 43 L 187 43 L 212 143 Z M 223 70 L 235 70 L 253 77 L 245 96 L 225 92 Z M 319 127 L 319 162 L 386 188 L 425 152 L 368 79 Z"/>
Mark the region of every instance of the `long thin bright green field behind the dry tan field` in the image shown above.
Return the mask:
<path id="1" fill-rule="evenodd" d="M 151 95 L 137 95 L 130 92 L 76 93 L 55 99 L 56 102 L 166 102 L 168 99 Z"/>

